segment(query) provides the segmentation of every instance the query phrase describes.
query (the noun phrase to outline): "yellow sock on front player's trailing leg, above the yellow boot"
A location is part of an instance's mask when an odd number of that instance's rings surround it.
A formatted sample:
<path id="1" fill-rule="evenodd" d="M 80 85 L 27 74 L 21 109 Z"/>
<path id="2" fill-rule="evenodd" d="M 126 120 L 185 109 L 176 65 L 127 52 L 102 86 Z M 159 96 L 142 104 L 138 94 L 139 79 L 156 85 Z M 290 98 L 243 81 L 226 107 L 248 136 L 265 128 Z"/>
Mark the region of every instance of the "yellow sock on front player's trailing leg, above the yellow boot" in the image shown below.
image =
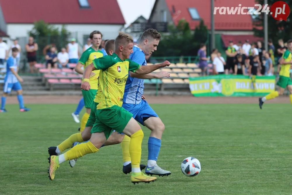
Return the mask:
<path id="1" fill-rule="evenodd" d="M 77 146 L 74 146 L 72 149 L 68 150 L 65 154 L 65 160 L 73 160 L 75 158 L 80 158 L 84 156 L 85 154 L 95 153 L 98 149 L 90 142 L 86 142 L 83 144 L 78 144 Z"/>

